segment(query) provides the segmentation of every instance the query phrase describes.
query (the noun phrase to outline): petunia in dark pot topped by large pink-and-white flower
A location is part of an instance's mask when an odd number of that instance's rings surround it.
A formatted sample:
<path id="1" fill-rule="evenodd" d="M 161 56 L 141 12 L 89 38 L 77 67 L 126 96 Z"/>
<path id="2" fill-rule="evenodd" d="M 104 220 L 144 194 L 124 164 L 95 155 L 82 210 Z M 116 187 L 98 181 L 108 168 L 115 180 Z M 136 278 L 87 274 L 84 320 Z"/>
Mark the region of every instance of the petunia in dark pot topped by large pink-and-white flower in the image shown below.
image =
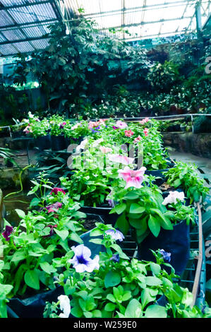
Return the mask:
<path id="1" fill-rule="evenodd" d="M 186 267 L 189 255 L 189 224 L 193 220 L 193 209 L 186 208 L 181 214 L 169 211 L 161 191 L 152 184 L 152 180 L 149 179 L 148 185 L 144 182 L 144 172 L 144 169 L 133 171 L 128 167 L 119 171 L 126 186 L 118 191 L 113 190 L 114 201 L 118 203 L 111 213 L 119 215 L 115 226 L 119 227 L 124 235 L 128 234 L 129 230 L 132 231 L 133 239 L 138 244 L 140 259 L 147 259 L 151 254 L 150 249 L 170 248 L 172 266 L 176 274 L 180 275 Z M 154 245 L 155 247 L 152 247 Z"/>

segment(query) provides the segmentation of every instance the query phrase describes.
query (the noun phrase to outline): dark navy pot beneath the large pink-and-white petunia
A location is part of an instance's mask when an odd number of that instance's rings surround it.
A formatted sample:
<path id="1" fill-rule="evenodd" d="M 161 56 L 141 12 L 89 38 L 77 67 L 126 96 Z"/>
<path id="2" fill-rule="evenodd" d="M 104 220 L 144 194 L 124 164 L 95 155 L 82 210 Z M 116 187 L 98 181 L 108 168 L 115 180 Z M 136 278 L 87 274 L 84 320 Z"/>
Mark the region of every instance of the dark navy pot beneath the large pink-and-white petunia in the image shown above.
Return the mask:
<path id="1" fill-rule="evenodd" d="M 176 275 L 181 275 L 186 268 L 190 254 L 190 227 L 186 225 L 186 220 L 174 225 L 173 230 L 164 230 L 161 228 L 158 237 L 150 233 L 138 245 L 138 259 L 144 261 L 156 261 L 150 250 L 164 249 L 171 253 L 170 264 L 175 269 Z M 164 266 L 167 272 L 170 268 Z"/>

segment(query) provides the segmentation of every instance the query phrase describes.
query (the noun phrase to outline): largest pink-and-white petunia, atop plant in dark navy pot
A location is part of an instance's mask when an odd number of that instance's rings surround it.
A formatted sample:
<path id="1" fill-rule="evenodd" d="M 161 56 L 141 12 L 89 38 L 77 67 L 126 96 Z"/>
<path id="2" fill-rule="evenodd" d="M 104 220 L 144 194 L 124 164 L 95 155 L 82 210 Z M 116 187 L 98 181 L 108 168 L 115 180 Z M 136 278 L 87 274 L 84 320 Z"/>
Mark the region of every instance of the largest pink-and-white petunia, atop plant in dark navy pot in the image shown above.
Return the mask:
<path id="1" fill-rule="evenodd" d="M 126 181 L 125 189 L 133 186 L 134 188 L 141 188 L 143 182 L 143 175 L 146 167 L 140 167 L 139 170 L 131 170 L 128 166 L 124 167 L 123 170 L 118 170 L 119 177 Z"/>

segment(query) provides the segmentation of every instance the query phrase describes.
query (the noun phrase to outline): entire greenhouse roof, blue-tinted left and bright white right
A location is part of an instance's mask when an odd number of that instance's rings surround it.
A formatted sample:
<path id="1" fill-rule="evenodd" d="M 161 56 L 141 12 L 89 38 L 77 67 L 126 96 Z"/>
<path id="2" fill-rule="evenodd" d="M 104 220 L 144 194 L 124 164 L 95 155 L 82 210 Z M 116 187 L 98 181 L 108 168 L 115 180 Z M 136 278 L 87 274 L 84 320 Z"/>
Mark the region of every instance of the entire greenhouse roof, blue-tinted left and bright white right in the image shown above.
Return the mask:
<path id="1" fill-rule="evenodd" d="M 210 0 L 0 0 L 0 57 L 44 49 L 50 24 L 82 16 L 129 42 L 195 32 L 209 15 Z"/>

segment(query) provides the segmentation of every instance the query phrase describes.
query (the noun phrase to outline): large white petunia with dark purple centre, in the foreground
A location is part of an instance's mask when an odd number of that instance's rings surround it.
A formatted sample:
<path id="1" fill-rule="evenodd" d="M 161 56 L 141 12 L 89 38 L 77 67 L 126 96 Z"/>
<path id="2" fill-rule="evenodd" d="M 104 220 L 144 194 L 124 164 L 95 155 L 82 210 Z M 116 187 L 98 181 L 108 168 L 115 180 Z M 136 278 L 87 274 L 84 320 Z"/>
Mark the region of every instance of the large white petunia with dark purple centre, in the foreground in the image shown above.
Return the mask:
<path id="1" fill-rule="evenodd" d="M 71 247 L 75 256 L 73 259 L 68 260 L 68 263 L 73 264 L 73 268 L 76 268 L 76 272 L 92 272 L 100 268 L 99 255 L 96 255 L 94 259 L 90 259 L 91 251 L 84 244 L 79 244 L 77 247 Z"/>

